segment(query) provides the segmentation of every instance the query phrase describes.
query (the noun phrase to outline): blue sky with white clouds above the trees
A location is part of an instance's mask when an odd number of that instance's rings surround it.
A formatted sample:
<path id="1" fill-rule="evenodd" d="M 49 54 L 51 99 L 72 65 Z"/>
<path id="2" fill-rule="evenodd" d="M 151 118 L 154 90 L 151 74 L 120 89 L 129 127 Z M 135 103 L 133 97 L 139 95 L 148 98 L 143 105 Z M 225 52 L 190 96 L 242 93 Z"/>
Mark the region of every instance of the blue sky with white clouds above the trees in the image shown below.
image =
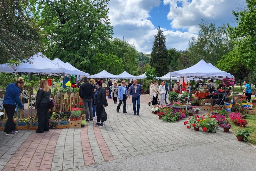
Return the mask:
<path id="1" fill-rule="evenodd" d="M 189 40 L 197 37 L 202 20 L 216 27 L 227 22 L 234 27 L 232 11 L 245 6 L 244 0 L 110 0 L 108 16 L 113 38 L 150 53 L 158 26 L 166 36 L 167 49 L 185 50 Z"/>

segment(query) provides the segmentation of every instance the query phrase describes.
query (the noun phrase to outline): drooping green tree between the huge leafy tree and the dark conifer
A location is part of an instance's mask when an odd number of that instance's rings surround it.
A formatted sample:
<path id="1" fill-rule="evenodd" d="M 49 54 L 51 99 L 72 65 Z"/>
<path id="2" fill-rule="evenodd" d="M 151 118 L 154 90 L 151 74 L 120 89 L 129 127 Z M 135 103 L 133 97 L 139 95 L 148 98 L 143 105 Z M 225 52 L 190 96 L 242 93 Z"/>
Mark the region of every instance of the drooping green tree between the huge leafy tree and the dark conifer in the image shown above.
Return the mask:
<path id="1" fill-rule="evenodd" d="M 112 41 L 111 53 L 122 59 L 123 69 L 128 73 L 133 75 L 138 70 L 137 51 L 133 44 L 115 38 Z"/>

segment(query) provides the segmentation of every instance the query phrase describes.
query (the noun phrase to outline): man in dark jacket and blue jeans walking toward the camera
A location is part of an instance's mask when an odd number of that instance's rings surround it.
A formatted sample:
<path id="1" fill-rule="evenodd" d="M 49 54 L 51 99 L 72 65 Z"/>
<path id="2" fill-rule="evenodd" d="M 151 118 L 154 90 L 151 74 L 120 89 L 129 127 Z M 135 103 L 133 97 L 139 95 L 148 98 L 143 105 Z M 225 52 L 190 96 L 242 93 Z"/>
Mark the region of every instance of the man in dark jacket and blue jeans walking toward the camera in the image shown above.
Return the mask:
<path id="1" fill-rule="evenodd" d="M 137 80 L 134 78 L 132 80 L 133 84 L 129 88 L 129 98 L 132 95 L 132 105 L 133 105 L 133 115 L 140 115 L 140 95 L 142 93 L 141 85 L 137 83 Z M 137 110 L 136 110 L 136 101 L 137 101 Z"/>

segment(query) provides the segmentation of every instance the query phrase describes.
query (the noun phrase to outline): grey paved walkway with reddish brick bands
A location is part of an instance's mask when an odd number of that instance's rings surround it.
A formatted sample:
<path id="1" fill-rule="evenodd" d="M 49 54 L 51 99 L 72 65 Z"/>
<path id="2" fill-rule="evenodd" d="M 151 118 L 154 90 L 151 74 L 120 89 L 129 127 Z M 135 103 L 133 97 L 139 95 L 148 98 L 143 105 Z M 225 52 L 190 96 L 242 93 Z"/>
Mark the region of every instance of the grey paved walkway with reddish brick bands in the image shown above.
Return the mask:
<path id="1" fill-rule="evenodd" d="M 151 112 L 151 107 L 147 104 L 149 101 L 149 96 L 144 95 L 140 116 L 134 116 L 131 99 L 128 99 L 126 114 L 122 113 L 122 106 L 117 113 L 117 105 L 113 104 L 112 99 L 108 99 L 108 120 L 102 128 L 94 127 L 94 120 L 87 122 L 85 128 L 50 129 L 44 133 L 20 130 L 16 135 L 6 136 L 0 131 L 0 170 L 156 170 L 153 166 L 149 167 L 149 164 L 165 161 L 168 154 L 177 156 L 170 158 L 175 160 L 172 163 L 180 162 L 182 165 L 187 162 L 188 156 L 190 158 L 200 154 L 194 150 L 207 151 L 209 148 L 213 150 L 214 156 L 219 157 L 214 153 L 214 148 L 223 148 L 224 151 L 220 154 L 225 156 L 227 146 L 236 150 L 239 145 L 249 149 L 248 155 L 247 151 L 241 153 L 243 160 L 250 159 L 246 164 L 248 170 L 255 169 L 250 168 L 250 163 L 256 162 L 256 149 L 237 141 L 232 132 L 226 133 L 222 128 L 217 133 L 203 132 L 201 129 L 194 131 L 186 128 L 183 124 L 185 120 L 176 123 L 161 122 Z M 190 152 L 186 153 L 187 150 Z M 178 156 L 183 156 L 183 160 Z M 135 165 L 130 163 L 137 159 L 140 162 L 135 162 Z M 203 158 L 201 160 L 195 169 L 200 170 L 202 162 L 205 162 Z M 122 166 L 122 163 L 130 164 Z M 165 164 L 162 166 L 162 169 L 159 166 L 160 170 L 172 170 Z M 179 168 L 174 170 L 177 169 Z"/>

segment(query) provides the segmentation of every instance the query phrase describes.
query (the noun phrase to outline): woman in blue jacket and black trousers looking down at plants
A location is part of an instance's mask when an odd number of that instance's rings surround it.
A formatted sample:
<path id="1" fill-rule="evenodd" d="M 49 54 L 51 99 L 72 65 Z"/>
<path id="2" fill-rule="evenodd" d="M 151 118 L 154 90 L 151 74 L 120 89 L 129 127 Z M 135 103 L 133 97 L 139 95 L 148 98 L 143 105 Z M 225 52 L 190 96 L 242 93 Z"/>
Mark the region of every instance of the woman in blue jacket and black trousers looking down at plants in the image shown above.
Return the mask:
<path id="1" fill-rule="evenodd" d="M 16 105 L 21 109 L 24 109 L 24 105 L 21 103 L 20 100 L 20 88 L 25 85 L 24 79 L 22 77 L 19 77 L 16 80 L 16 83 L 10 83 L 6 87 L 3 106 L 7 113 L 7 122 L 4 128 L 5 135 L 14 135 L 18 130 L 15 127 L 15 123 L 13 121 L 13 116 L 15 112 Z"/>

